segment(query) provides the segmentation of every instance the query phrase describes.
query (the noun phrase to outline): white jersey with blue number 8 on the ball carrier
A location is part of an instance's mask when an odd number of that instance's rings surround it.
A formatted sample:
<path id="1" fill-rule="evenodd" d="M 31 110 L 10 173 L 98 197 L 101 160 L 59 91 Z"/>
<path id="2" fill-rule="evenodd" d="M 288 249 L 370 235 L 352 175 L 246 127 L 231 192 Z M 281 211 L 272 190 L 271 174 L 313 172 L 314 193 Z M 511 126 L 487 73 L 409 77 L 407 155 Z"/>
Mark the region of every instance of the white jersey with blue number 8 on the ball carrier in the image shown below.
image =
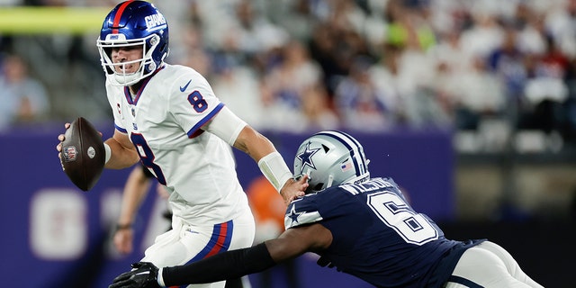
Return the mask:
<path id="1" fill-rule="evenodd" d="M 191 67 L 165 64 L 136 95 L 106 82 L 116 130 L 126 133 L 144 166 L 165 184 L 175 216 L 216 224 L 249 209 L 229 144 L 201 130 L 223 107 Z"/>

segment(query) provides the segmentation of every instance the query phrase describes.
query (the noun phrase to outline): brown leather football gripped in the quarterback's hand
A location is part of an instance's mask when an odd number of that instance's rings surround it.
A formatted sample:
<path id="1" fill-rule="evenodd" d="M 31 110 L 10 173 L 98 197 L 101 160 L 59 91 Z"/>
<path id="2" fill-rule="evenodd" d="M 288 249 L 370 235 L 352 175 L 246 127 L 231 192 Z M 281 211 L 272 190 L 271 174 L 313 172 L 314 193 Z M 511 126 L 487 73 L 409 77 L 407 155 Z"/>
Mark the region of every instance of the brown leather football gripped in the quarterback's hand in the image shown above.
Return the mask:
<path id="1" fill-rule="evenodd" d="M 64 133 L 60 162 L 72 183 L 82 191 L 88 191 L 102 175 L 105 153 L 98 130 L 92 123 L 79 117 Z"/>

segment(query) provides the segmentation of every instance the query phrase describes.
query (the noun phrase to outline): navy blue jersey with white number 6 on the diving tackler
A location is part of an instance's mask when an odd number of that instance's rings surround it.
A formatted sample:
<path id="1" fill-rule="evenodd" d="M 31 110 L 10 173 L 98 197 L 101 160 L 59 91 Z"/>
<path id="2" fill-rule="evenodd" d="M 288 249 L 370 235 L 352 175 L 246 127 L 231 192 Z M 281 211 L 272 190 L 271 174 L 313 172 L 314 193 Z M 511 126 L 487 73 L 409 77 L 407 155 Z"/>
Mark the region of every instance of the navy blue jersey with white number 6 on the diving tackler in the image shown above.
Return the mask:
<path id="1" fill-rule="evenodd" d="M 392 178 L 342 184 L 293 201 L 286 229 L 320 223 L 332 244 L 323 261 L 378 287 L 440 287 L 467 247 L 406 202 Z"/>

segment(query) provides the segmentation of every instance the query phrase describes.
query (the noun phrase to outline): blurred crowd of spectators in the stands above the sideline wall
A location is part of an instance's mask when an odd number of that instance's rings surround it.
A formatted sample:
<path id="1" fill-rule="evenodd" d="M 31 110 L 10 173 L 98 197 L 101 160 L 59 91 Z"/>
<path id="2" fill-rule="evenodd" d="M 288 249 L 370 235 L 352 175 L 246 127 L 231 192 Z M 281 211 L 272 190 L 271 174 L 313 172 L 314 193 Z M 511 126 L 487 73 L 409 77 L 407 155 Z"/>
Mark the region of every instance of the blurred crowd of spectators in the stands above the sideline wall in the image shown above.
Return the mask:
<path id="1" fill-rule="evenodd" d="M 157 6 L 171 29 L 167 61 L 197 69 L 259 130 L 490 126 L 500 127 L 503 138 L 538 130 L 576 142 L 575 0 L 187 0 Z M 62 57 L 101 69 L 94 35 L 68 40 L 76 48 Z M 26 55 L 12 43 L 0 41 L 0 98 L 13 105 L 3 104 L 10 112 L 2 117 L 11 119 L 0 119 L 0 129 L 33 118 L 16 111 L 62 118 L 55 107 L 78 95 L 49 89 L 54 97 L 40 81 L 14 88 L 10 59 L 26 62 Z M 77 65 L 74 59 L 62 63 Z M 100 74 L 88 77 L 103 86 Z"/>

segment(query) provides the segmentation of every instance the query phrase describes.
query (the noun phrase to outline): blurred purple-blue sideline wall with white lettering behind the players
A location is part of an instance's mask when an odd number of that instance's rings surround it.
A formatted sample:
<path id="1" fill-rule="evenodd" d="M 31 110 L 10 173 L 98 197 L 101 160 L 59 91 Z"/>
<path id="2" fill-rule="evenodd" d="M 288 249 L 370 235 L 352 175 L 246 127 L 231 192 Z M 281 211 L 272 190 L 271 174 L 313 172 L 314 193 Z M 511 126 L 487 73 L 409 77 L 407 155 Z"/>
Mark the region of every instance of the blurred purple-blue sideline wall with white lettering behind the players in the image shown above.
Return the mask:
<path id="1" fill-rule="evenodd" d="M 104 137 L 112 125 L 95 125 Z M 0 173 L 0 271 L 3 286 L 107 287 L 112 278 L 138 261 L 149 241 L 149 226 L 166 229 L 157 220 L 156 193 L 149 193 L 136 225 L 135 251 L 113 252 L 110 235 L 120 209 L 121 188 L 130 169 L 104 170 L 94 189 L 77 189 L 61 171 L 55 146 L 58 127 L 14 130 L 0 134 L 3 166 Z M 293 153 L 309 135 L 265 133 L 292 166 Z M 410 196 L 413 206 L 436 220 L 452 220 L 454 156 L 450 135 L 444 132 L 395 132 L 354 136 L 365 145 L 373 175 L 390 175 Z M 236 151 L 238 175 L 246 187 L 260 175 L 247 155 Z M 155 215 L 152 215 L 155 214 Z M 158 229 L 158 228 L 157 228 Z M 334 269 L 315 265 L 313 257 L 298 259 L 302 288 L 370 287 Z M 253 277 L 253 276 L 251 276 Z M 279 279 L 282 279 L 280 277 Z M 253 284 L 258 288 L 257 284 Z"/>

